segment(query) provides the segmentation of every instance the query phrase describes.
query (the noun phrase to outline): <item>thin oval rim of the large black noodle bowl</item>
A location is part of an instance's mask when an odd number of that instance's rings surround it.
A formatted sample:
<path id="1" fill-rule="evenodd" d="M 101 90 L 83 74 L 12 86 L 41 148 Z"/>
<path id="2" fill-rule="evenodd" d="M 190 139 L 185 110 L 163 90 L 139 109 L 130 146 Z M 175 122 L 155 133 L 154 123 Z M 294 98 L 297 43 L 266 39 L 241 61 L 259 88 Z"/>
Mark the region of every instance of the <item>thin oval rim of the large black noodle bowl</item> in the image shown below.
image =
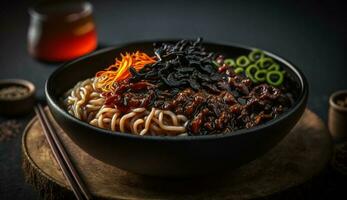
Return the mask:
<path id="1" fill-rule="evenodd" d="M 276 55 L 275 53 L 272 53 L 270 51 L 261 49 L 266 55 L 275 58 L 276 60 L 279 60 L 280 62 L 282 62 L 284 65 L 286 65 L 286 67 L 288 67 L 291 71 L 294 72 L 294 74 L 296 75 L 296 77 L 299 79 L 300 82 L 300 93 L 299 96 L 297 98 L 297 100 L 295 101 L 295 105 L 290 108 L 288 111 L 286 111 L 285 113 L 282 113 L 281 115 L 279 115 L 277 118 L 272 119 L 266 123 L 254 126 L 252 128 L 244 128 L 244 129 L 240 129 L 237 131 L 234 131 L 233 133 L 229 133 L 229 134 L 213 134 L 213 135 L 197 135 L 197 136 L 175 136 L 175 137 L 171 137 L 171 136 L 141 136 L 141 135 L 135 135 L 135 134 L 129 134 L 129 133 L 121 133 L 118 131 L 112 131 L 112 130 L 107 130 L 107 129 L 102 129 L 93 125 L 90 125 L 84 121 L 81 121 L 75 117 L 73 117 L 72 115 L 70 115 L 67 111 L 63 110 L 60 106 L 59 106 L 59 102 L 57 101 L 57 99 L 53 98 L 50 92 L 50 88 L 51 88 L 51 80 L 57 76 L 57 74 L 59 74 L 60 71 L 63 71 L 65 68 L 68 68 L 69 66 L 80 62 L 86 58 L 89 57 L 93 57 L 93 56 L 97 56 L 99 54 L 108 52 L 108 51 L 112 51 L 115 49 L 120 49 L 120 48 L 124 48 L 127 47 L 129 45 L 135 45 L 135 44 L 139 44 L 139 43 L 162 43 L 162 42 L 175 42 L 178 41 L 180 39 L 161 39 L 161 40 L 139 40 L 139 41 L 132 41 L 132 42 L 124 42 L 124 43 L 119 43 L 116 45 L 113 45 L 111 47 L 107 47 L 107 48 L 103 48 L 97 51 L 94 51 L 93 53 L 87 54 L 85 56 L 79 57 L 73 61 L 64 63 L 62 66 L 60 66 L 59 68 L 57 68 L 46 80 L 45 83 L 45 95 L 47 98 L 47 101 L 49 102 L 49 104 L 51 104 L 52 107 L 54 107 L 61 115 L 63 115 L 63 117 L 67 118 L 70 121 L 73 121 L 74 123 L 79 124 L 80 126 L 83 126 L 85 128 L 89 128 L 93 131 L 98 132 L 98 134 L 104 134 L 104 135 L 108 135 L 108 136 L 112 136 L 112 137 L 124 137 L 124 138 L 128 138 L 128 139 L 134 139 L 134 140 L 152 140 L 152 141 L 192 141 L 192 140 L 213 140 L 213 139 L 222 139 L 222 138 L 228 138 L 228 137 L 234 137 L 234 136 L 238 136 L 238 135 L 243 135 L 243 134 L 247 134 L 247 133 L 252 133 L 252 132 L 256 132 L 258 130 L 267 128 L 267 127 L 271 127 L 274 124 L 284 121 L 286 120 L 292 113 L 294 113 L 295 111 L 299 110 L 300 107 L 302 106 L 302 104 L 304 104 L 307 100 L 308 97 L 308 82 L 306 77 L 304 76 L 304 74 L 302 73 L 302 71 L 300 69 L 298 69 L 296 67 L 296 65 L 294 65 L 292 62 L 287 61 L 286 59 L 284 59 L 281 56 Z M 207 45 L 217 45 L 217 46 L 226 46 L 226 47 L 236 47 L 236 48 L 242 48 L 242 49 L 246 49 L 246 50 L 253 50 L 253 49 L 260 49 L 260 48 L 255 48 L 252 46 L 247 46 L 247 45 L 240 45 L 240 44 L 236 44 L 236 43 L 228 43 L 228 42 L 211 42 L 211 41 L 204 41 L 203 44 L 207 44 Z"/>

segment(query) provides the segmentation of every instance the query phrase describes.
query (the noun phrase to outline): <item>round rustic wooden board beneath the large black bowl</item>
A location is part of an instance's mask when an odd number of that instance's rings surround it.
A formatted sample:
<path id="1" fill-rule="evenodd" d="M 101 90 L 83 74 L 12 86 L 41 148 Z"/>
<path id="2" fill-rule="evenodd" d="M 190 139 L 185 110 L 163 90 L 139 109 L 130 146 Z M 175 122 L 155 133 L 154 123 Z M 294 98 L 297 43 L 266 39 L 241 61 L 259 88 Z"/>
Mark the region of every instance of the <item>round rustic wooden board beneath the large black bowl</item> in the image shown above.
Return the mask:
<path id="1" fill-rule="evenodd" d="M 332 152 L 330 134 L 324 123 L 306 110 L 287 137 L 257 160 L 216 177 L 168 180 L 131 174 L 96 160 L 75 145 L 57 124 L 55 126 L 89 190 L 95 197 L 106 199 L 264 197 L 309 180 L 324 169 Z M 23 134 L 22 147 L 27 181 L 45 198 L 71 196 L 36 118 Z"/>

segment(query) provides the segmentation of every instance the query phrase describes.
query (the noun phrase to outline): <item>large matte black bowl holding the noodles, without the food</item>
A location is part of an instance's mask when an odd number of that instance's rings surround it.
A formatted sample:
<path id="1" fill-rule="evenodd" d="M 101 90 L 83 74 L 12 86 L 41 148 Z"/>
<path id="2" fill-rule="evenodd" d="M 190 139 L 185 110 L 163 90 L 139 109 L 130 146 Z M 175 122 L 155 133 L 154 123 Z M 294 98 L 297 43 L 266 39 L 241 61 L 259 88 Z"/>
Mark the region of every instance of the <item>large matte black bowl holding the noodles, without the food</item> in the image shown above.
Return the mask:
<path id="1" fill-rule="evenodd" d="M 239 45 L 204 45 L 209 51 L 233 56 L 247 54 L 252 50 Z M 305 110 L 308 83 L 304 75 L 288 61 L 266 52 L 291 77 L 297 98 L 289 111 L 254 128 L 207 136 L 138 136 L 97 128 L 66 112 L 61 105 L 61 98 L 67 90 L 78 81 L 93 77 L 95 72 L 112 64 L 120 53 L 135 50 L 152 55 L 153 41 L 99 50 L 67 63 L 48 78 L 45 90 L 54 118 L 70 138 L 93 157 L 121 169 L 163 177 L 207 175 L 231 170 L 274 147 L 293 128 Z"/>

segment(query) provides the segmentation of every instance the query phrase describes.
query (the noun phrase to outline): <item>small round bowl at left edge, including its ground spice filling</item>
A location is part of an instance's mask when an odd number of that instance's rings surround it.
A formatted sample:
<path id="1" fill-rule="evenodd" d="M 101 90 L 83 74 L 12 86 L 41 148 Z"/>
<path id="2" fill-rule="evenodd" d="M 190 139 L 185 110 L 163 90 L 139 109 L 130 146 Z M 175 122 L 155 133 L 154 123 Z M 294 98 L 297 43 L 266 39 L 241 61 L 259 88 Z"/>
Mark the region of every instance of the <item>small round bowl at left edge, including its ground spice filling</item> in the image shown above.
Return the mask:
<path id="1" fill-rule="evenodd" d="M 35 103 L 35 86 L 21 79 L 0 80 L 0 114 L 22 115 L 29 113 Z"/>

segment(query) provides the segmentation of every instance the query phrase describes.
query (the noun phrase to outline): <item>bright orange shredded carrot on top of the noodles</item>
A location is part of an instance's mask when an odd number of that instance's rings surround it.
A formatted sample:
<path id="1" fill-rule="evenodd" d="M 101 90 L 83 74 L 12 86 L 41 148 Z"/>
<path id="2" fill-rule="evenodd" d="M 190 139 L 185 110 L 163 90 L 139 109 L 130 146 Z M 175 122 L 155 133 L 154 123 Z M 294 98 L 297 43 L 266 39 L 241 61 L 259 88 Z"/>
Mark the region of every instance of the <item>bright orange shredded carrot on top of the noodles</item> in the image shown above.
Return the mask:
<path id="1" fill-rule="evenodd" d="M 131 77 L 130 67 L 140 71 L 145 65 L 154 62 L 156 62 L 155 57 L 150 57 L 139 51 L 131 54 L 127 52 L 125 55 L 121 54 L 121 60 L 116 58 L 115 64 L 96 73 L 96 87 L 104 92 L 113 91 L 117 82 Z"/>

